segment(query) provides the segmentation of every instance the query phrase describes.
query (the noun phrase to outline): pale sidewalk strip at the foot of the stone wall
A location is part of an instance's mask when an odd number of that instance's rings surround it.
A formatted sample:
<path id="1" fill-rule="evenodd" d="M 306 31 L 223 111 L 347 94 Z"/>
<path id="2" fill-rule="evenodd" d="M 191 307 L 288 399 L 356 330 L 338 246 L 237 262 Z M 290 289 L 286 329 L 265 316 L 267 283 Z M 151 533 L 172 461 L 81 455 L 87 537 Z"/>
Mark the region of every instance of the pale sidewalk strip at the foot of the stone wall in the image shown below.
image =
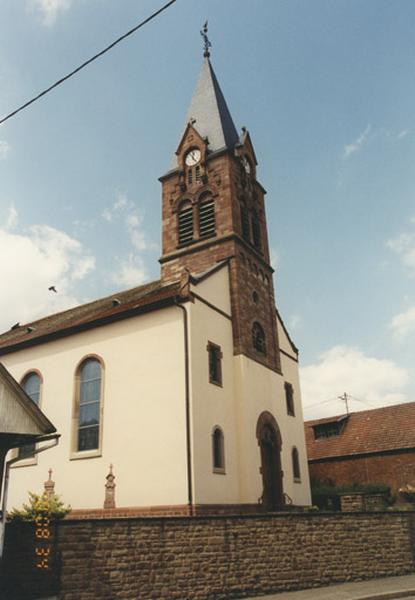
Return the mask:
<path id="1" fill-rule="evenodd" d="M 341 583 L 297 592 L 280 592 L 249 600 L 409 600 L 411 597 L 415 600 L 415 574 Z"/>

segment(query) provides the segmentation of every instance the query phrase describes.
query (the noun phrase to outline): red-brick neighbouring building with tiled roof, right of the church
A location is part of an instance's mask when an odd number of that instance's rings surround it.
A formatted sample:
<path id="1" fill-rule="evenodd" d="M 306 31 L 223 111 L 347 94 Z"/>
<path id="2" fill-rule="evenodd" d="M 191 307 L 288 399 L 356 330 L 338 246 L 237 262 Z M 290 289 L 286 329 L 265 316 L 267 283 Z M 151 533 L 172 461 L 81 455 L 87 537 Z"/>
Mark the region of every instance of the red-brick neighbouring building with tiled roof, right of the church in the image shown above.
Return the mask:
<path id="1" fill-rule="evenodd" d="M 311 480 L 415 485 L 415 402 L 305 422 Z"/>

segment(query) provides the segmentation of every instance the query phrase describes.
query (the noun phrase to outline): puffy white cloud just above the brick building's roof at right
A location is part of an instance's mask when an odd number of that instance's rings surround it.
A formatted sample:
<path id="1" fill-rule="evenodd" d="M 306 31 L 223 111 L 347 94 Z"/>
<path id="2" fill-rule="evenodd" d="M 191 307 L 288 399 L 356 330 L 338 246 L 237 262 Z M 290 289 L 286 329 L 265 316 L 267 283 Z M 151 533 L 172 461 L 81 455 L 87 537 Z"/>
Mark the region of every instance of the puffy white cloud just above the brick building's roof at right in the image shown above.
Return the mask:
<path id="1" fill-rule="evenodd" d="M 344 392 L 361 401 L 352 399 L 351 411 L 405 402 L 408 398 L 402 389 L 408 380 L 408 371 L 391 360 L 335 346 L 321 354 L 317 363 L 301 369 L 305 418 L 343 414 L 344 402 L 335 399 Z"/>

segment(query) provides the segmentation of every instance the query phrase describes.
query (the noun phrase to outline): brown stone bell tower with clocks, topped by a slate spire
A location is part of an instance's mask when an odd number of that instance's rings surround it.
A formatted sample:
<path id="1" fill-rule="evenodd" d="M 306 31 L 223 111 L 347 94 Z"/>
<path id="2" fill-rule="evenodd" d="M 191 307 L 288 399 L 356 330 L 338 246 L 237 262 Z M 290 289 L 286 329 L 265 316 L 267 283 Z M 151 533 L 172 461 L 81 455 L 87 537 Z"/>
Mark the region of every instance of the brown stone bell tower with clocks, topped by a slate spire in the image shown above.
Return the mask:
<path id="1" fill-rule="evenodd" d="M 238 135 L 213 71 L 206 27 L 204 62 L 162 183 L 162 283 L 228 261 L 234 354 L 281 372 L 265 190 L 244 127 Z"/>

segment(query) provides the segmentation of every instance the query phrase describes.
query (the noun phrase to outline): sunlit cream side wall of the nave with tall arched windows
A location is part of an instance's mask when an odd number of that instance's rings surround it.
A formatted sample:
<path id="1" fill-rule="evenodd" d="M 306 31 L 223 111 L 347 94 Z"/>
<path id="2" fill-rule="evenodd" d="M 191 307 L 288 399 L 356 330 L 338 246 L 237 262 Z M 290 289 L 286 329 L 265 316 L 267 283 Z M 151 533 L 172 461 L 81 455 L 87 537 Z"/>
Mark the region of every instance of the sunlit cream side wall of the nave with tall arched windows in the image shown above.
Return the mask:
<path id="1" fill-rule="evenodd" d="M 74 375 L 87 355 L 104 364 L 102 454 L 71 459 Z M 53 469 L 56 491 L 73 508 L 101 508 L 114 465 L 117 506 L 186 504 L 183 316 L 157 310 L 2 357 L 20 381 L 42 374 L 41 409 L 61 434 L 36 464 L 12 469 L 9 507 L 42 491 Z M 87 453 L 85 453 L 87 455 Z M 30 461 L 29 461 L 30 462 Z"/>

